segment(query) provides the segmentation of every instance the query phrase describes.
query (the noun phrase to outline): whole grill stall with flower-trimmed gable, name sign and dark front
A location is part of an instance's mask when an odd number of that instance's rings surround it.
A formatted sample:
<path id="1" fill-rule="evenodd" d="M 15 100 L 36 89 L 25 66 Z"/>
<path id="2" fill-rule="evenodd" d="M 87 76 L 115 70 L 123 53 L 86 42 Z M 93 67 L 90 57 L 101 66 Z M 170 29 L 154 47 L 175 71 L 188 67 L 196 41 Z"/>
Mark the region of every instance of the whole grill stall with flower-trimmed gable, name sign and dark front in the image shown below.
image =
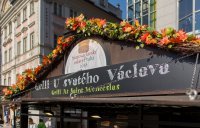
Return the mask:
<path id="1" fill-rule="evenodd" d="M 166 33 L 138 24 L 84 21 L 68 19 L 67 27 L 77 32 L 59 39 L 42 66 L 19 77 L 15 88 L 20 91 L 10 97 L 20 110 L 14 126 L 200 127 L 199 46 L 190 44 L 198 39 L 188 37 L 193 40 L 186 45 L 178 42 L 186 35 L 171 29 L 168 34 L 177 35 L 167 36 L 167 42 Z M 155 41 L 161 43 L 155 46 Z"/>

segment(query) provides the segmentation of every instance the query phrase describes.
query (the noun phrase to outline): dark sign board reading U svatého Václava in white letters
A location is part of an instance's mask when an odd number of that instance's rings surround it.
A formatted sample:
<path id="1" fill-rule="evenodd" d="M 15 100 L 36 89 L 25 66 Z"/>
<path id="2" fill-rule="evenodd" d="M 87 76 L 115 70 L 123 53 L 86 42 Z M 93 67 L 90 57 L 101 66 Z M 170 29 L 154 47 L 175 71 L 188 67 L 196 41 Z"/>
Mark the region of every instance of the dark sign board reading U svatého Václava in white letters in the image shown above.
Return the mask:
<path id="1" fill-rule="evenodd" d="M 157 94 L 190 87 L 194 60 L 157 56 L 43 80 L 33 98 Z M 197 67 L 199 68 L 199 67 Z"/>

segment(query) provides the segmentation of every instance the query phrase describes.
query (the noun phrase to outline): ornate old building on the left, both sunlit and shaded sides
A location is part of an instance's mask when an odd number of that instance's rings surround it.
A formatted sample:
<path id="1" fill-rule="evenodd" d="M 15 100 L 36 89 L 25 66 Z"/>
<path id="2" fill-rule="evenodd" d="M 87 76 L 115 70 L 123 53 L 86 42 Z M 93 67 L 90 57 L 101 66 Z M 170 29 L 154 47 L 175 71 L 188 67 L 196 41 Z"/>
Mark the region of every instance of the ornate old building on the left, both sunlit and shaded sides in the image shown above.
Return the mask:
<path id="1" fill-rule="evenodd" d="M 14 84 L 18 74 L 41 63 L 63 34 L 66 17 L 121 18 L 107 0 L 1 0 L 0 5 L 2 85 Z"/>

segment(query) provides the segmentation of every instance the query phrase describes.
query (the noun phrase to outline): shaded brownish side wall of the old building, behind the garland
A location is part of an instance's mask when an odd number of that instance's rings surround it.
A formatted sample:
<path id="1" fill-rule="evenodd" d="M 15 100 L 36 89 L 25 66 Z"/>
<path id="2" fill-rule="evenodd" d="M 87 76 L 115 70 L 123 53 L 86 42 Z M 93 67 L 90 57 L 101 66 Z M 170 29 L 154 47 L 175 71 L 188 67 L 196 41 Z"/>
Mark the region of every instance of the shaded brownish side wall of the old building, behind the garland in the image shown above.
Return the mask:
<path id="1" fill-rule="evenodd" d="M 111 15 L 107 11 L 102 11 L 86 1 L 74 1 L 69 0 L 58 0 L 58 1 L 43 1 L 41 13 L 41 42 L 44 42 L 44 47 L 41 47 L 41 53 L 43 55 L 49 54 L 55 46 L 55 36 L 58 37 L 63 35 L 65 32 L 65 21 L 66 17 L 75 17 L 81 13 L 86 18 L 103 18 L 112 22 L 119 22 L 120 19 L 114 15 Z M 57 4 L 57 14 L 54 12 L 54 4 Z M 77 5 L 82 5 L 84 8 L 80 8 Z M 62 6 L 62 13 L 59 14 L 59 6 Z M 87 8 L 87 9 L 85 9 Z"/>

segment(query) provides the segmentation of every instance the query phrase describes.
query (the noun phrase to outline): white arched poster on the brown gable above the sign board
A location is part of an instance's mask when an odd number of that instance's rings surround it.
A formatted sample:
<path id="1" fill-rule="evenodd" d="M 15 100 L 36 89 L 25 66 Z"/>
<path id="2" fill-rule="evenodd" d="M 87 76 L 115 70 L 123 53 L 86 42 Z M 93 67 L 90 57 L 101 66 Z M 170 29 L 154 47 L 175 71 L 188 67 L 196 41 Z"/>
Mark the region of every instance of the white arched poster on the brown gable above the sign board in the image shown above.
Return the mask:
<path id="1" fill-rule="evenodd" d="M 65 74 L 106 66 L 106 55 L 102 46 L 92 39 L 78 43 L 68 56 Z"/>

